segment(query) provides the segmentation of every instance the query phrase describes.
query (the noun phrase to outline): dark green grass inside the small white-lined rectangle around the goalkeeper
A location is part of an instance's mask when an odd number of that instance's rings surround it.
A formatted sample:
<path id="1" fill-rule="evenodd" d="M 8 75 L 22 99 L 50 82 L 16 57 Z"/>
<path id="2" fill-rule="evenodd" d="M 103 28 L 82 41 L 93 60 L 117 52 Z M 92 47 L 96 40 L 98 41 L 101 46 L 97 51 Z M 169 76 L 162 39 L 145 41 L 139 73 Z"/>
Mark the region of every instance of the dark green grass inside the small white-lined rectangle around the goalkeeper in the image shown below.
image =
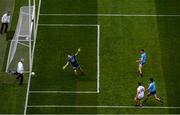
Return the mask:
<path id="1" fill-rule="evenodd" d="M 79 83 L 80 91 L 95 91 L 97 76 L 96 32 L 97 27 L 39 27 L 38 37 L 40 39 L 37 40 L 33 69 L 36 76 L 33 77 L 31 90 L 73 91 L 78 90 L 76 84 Z M 87 40 L 89 42 L 86 42 Z M 54 45 L 54 42 L 58 45 Z M 79 53 L 78 61 L 87 75 L 76 79 L 71 68 L 64 71 L 62 67 L 67 62 L 67 55 L 75 54 L 79 47 L 82 52 Z M 89 61 L 86 62 L 86 60 Z M 42 76 L 44 77 L 42 78 Z M 85 86 L 80 87 L 81 84 Z"/>

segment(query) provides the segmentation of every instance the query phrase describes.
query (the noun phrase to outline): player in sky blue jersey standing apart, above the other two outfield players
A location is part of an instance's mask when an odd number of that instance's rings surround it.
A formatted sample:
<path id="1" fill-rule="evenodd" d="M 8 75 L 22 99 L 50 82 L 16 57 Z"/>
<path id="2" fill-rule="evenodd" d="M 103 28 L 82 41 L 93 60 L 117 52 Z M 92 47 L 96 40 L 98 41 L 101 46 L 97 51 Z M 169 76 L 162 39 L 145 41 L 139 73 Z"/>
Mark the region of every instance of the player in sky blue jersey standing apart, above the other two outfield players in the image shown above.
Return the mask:
<path id="1" fill-rule="evenodd" d="M 136 62 L 139 63 L 138 74 L 142 77 L 143 76 L 142 68 L 146 64 L 146 53 L 144 49 L 141 49 L 140 53 L 141 53 L 141 57 L 138 60 L 136 60 Z"/>

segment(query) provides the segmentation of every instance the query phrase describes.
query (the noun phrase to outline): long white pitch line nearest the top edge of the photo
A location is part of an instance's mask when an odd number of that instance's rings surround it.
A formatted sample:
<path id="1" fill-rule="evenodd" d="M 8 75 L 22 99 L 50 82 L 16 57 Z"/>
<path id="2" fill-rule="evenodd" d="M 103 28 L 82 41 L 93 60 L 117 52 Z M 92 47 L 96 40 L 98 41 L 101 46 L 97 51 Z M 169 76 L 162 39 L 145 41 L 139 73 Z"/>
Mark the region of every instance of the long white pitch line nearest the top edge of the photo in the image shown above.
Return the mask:
<path id="1" fill-rule="evenodd" d="M 180 14 L 40 14 L 40 16 L 180 17 Z"/>

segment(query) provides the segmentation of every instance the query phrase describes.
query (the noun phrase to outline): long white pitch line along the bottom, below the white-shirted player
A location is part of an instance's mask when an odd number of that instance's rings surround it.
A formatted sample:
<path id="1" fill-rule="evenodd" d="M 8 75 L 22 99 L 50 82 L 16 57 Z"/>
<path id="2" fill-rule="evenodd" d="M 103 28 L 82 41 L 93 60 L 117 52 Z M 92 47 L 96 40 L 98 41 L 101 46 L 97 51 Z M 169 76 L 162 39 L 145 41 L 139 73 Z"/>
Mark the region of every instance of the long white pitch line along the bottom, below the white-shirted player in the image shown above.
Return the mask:
<path id="1" fill-rule="evenodd" d="M 28 105 L 28 108 L 117 108 L 117 109 L 180 109 L 180 107 L 174 106 L 143 106 L 143 107 L 136 107 L 136 106 L 67 106 L 67 105 Z"/>

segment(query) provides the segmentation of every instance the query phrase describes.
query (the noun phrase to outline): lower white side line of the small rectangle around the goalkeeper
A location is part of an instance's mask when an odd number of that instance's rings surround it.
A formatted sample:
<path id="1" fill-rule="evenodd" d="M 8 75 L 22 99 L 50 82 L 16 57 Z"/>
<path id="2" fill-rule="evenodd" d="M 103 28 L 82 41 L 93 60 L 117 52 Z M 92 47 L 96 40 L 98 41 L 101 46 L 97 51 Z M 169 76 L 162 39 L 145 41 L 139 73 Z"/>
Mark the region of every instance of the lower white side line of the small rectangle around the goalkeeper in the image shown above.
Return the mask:
<path id="1" fill-rule="evenodd" d="M 88 94 L 90 94 L 90 93 L 98 93 L 97 91 L 29 91 L 29 93 L 34 93 L 34 94 L 40 94 L 40 93 L 67 93 L 67 94 L 70 94 L 70 93 L 74 93 L 74 94 L 76 94 L 76 93 L 88 93 Z"/>

